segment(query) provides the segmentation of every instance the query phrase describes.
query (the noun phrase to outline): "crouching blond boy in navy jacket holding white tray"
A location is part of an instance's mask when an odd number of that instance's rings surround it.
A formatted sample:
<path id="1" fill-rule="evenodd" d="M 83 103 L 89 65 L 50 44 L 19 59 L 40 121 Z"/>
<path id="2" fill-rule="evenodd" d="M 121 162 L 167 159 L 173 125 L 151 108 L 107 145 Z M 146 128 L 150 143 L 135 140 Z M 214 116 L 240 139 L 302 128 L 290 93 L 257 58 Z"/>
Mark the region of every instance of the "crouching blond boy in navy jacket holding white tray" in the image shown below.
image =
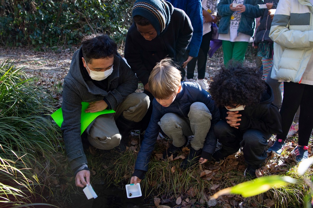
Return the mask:
<path id="1" fill-rule="evenodd" d="M 152 70 L 149 77 L 153 99 L 151 120 L 137 156 L 131 183 L 138 183 L 148 171 L 148 163 L 160 128 L 173 140 L 163 158 L 177 155 L 187 144 L 187 136 L 194 135 L 190 142 L 189 155 L 181 168 L 187 169 L 211 160 L 217 140 L 213 126 L 220 114 L 211 95 L 198 83 L 181 82 L 180 71 L 170 59 L 163 59 Z"/>

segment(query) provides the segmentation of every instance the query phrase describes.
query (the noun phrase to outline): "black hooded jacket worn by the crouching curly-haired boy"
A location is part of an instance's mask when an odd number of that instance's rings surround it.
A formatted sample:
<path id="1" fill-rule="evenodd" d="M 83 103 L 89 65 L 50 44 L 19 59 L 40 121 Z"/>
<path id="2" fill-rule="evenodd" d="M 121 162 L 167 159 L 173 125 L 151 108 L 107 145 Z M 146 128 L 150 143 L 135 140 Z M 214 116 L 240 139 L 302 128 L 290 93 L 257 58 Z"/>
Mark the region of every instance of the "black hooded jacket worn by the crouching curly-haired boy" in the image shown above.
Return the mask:
<path id="1" fill-rule="evenodd" d="M 240 125 L 238 128 L 241 131 L 248 129 L 258 129 L 267 134 L 282 133 L 281 129 L 281 117 L 278 108 L 273 104 L 274 94 L 272 88 L 266 83 L 267 91 L 263 93 L 260 103 L 254 107 L 246 106 L 244 110 L 240 110 L 239 117 L 241 121 L 238 121 Z M 221 119 L 227 120 L 227 109 L 225 107 L 220 108 Z"/>

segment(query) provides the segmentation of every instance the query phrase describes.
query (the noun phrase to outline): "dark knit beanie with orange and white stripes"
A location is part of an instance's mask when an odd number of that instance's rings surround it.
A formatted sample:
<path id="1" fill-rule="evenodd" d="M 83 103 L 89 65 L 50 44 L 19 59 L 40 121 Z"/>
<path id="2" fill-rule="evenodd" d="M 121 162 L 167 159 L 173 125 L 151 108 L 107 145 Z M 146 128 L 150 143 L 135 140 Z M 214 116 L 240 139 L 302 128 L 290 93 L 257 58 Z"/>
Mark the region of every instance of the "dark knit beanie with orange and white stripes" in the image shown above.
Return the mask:
<path id="1" fill-rule="evenodd" d="M 149 20 L 160 35 L 171 20 L 172 5 L 164 0 L 137 0 L 133 6 L 132 17 L 140 15 Z"/>

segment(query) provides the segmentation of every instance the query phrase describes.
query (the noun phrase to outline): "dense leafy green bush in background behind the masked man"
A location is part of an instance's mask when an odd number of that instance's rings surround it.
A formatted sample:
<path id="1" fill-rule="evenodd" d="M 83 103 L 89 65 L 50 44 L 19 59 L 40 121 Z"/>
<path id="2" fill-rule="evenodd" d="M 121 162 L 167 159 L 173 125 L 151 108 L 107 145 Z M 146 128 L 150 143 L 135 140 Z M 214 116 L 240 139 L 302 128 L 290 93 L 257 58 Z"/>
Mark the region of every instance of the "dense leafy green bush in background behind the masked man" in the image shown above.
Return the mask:
<path id="1" fill-rule="evenodd" d="M 134 0 L 2 0 L 0 35 L 4 46 L 37 49 L 79 44 L 83 34 L 114 35 L 122 42 L 131 24 Z"/>

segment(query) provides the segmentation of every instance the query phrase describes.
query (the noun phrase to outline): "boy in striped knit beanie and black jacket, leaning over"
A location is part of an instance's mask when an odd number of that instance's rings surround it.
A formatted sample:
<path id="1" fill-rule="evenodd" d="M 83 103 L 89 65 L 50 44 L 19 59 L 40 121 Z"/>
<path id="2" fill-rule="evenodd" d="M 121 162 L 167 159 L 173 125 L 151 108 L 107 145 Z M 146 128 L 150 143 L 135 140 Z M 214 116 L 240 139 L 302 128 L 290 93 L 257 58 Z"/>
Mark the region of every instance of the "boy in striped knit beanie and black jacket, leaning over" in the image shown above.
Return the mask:
<path id="1" fill-rule="evenodd" d="M 137 0 L 132 17 L 133 24 L 127 32 L 124 55 L 152 103 L 154 97 L 148 83 L 152 69 L 160 60 L 171 58 L 179 65 L 183 80 L 186 72 L 181 66 L 187 60 L 184 54 L 193 29 L 187 14 L 164 0 Z M 146 129 L 151 113 L 150 104 L 142 119 L 141 132 Z"/>

